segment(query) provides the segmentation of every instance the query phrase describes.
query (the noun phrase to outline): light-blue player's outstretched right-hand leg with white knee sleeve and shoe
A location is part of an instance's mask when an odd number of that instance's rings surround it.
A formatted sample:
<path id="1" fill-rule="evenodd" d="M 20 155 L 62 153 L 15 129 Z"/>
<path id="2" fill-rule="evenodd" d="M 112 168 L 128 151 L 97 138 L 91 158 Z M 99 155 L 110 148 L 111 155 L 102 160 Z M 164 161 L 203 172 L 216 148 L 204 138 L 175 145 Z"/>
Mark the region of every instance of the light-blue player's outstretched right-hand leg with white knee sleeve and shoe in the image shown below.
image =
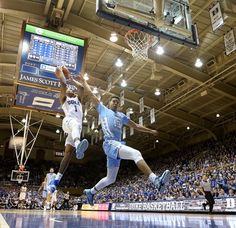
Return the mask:
<path id="1" fill-rule="evenodd" d="M 156 176 L 150 169 L 150 167 L 147 165 L 145 160 L 142 157 L 142 154 L 129 146 L 121 145 L 118 157 L 125 160 L 133 160 L 139 170 L 141 170 L 146 176 L 148 176 L 148 179 L 158 188 L 160 192 L 163 192 L 165 189 L 165 185 L 170 180 L 170 171 L 166 170 L 161 176 Z"/>

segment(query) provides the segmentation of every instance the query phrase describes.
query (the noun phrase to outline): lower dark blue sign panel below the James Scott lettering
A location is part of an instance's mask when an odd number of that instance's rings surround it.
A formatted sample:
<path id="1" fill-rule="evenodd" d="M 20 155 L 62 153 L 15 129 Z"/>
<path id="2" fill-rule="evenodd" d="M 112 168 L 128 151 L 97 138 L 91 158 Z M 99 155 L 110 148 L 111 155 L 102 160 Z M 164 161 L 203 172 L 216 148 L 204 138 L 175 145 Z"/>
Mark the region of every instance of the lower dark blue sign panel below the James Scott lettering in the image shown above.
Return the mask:
<path id="1" fill-rule="evenodd" d="M 15 106 L 60 113 L 63 111 L 59 101 L 59 94 L 59 92 L 49 91 L 43 88 L 18 85 Z"/>

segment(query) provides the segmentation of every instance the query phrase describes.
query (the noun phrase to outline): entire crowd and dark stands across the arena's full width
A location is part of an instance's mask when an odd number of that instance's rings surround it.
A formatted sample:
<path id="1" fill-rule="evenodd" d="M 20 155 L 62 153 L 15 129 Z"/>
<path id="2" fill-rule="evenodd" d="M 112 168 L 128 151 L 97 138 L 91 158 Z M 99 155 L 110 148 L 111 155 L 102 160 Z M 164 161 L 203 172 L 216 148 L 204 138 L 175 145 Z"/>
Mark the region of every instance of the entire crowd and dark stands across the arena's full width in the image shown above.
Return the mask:
<path id="1" fill-rule="evenodd" d="M 11 170 L 17 167 L 14 161 L 0 158 L 0 180 L 4 187 L 0 188 L 1 202 L 19 197 L 20 187 L 10 182 Z M 198 190 L 202 176 L 207 174 L 211 181 L 214 197 L 236 197 L 236 134 L 228 134 L 222 140 L 209 140 L 201 144 L 189 146 L 181 151 L 162 155 L 156 160 L 147 161 L 152 170 L 160 174 L 165 169 L 171 171 L 171 181 L 163 194 L 159 194 L 155 186 L 147 180 L 132 161 L 122 161 L 121 169 L 115 184 L 103 189 L 95 195 L 96 203 L 154 201 L 203 197 Z M 55 171 L 59 163 L 29 160 L 27 170 L 30 180 L 27 197 L 30 202 L 41 207 L 41 194 L 38 187 L 50 167 Z M 101 177 L 106 175 L 106 162 L 94 162 L 86 166 L 71 164 L 63 177 L 60 186 L 92 187 Z M 35 187 L 32 187 L 35 186 Z M 63 195 L 58 197 L 63 202 Z"/>

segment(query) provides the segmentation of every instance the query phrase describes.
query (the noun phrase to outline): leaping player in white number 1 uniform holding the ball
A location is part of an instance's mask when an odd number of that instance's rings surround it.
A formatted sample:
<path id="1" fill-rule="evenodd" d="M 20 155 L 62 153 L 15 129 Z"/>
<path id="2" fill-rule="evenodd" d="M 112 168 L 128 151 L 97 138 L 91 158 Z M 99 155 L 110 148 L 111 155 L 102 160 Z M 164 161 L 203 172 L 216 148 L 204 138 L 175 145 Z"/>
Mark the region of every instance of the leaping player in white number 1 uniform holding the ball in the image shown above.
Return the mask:
<path id="1" fill-rule="evenodd" d="M 65 117 L 62 121 L 62 129 L 65 133 L 67 133 L 67 138 L 65 141 L 65 155 L 61 161 L 59 171 L 56 178 L 49 182 L 47 187 L 50 193 L 53 193 L 59 185 L 59 182 L 70 163 L 74 151 L 76 151 L 76 158 L 82 159 L 84 157 L 84 152 L 88 148 L 88 141 L 86 139 L 80 141 L 83 119 L 81 104 L 84 93 L 83 86 L 71 77 L 70 72 L 66 67 L 57 67 L 55 74 L 61 83 L 59 99 L 65 113 Z M 66 78 L 77 87 L 77 94 L 67 88 Z"/>

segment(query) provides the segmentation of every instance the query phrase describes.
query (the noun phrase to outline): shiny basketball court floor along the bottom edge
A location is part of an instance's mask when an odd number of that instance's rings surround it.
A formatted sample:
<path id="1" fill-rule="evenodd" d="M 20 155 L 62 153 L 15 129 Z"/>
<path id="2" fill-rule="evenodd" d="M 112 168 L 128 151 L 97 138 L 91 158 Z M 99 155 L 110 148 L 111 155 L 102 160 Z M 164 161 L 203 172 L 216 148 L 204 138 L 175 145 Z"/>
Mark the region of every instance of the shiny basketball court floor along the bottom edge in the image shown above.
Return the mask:
<path id="1" fill-rule="evenodd" d="M 236 227 L 235 215 L 0 210 L 1 228 L 73 227 Z"/>

